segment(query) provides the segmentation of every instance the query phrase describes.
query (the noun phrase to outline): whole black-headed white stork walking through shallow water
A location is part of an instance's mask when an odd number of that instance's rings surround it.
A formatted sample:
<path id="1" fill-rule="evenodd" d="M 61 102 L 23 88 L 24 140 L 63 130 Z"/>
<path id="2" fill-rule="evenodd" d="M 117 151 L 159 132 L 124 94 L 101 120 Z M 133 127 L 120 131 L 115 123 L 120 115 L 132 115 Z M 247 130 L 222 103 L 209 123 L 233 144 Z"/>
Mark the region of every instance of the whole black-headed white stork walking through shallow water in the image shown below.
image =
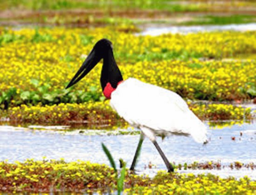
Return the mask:
<path id="1" fill-rule="evenodd" d="M 139 81 L 123 80 L 113 54 L 113 44 L 108 39 L 98 40 L 86 60 L 68 83 L 67 88 L 85 77 L 103 59 L 101 88 L 110 106 L 131 126 L 141 130 L 130 170 L 135 170 L 137 158 L 145 137 L 155 145 L 168 172 L 174 167 L 156 141 L 156 136 L 192 136 L 196 142 L 207 142 L 207 128 L 189 109 L 179 94 L 168 89 Z"/>

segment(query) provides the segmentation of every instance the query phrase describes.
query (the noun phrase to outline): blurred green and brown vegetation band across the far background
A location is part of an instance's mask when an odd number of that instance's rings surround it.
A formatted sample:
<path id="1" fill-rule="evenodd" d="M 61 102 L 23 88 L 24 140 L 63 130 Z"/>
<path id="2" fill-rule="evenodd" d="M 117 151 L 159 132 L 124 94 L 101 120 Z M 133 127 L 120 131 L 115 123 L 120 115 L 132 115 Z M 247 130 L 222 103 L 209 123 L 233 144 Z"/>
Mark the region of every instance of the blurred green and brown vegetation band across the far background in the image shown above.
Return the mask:
<path id="1" fill-rule="evenodd" d="M 240 24 L 255 21 L 249 15 L 255 8 L 256 3 L 248 0 L 7 0 L 0 2 L 0 21 L 7 26 L 40 23 L 80 27 L 135 24 L 138 20 L 176 25 Z"/>

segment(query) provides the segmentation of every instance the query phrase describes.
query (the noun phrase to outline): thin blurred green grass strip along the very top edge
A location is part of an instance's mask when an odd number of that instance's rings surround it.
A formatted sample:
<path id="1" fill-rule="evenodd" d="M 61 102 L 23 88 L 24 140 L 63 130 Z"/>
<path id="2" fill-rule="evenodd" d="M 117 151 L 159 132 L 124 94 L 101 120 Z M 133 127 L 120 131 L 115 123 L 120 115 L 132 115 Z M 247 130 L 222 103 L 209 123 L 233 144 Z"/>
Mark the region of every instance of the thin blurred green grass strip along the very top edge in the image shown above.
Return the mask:
<path id="1" fill-rule="evenodd" d="M 2 8 L 27 8 L 31 10 L 65 10 L 84 9 L 155 9 L 170 12 L 185 12 L 205 10 L 196 3 L 182 4 L 172 0 L 8 0 L 1 3 Z"/>

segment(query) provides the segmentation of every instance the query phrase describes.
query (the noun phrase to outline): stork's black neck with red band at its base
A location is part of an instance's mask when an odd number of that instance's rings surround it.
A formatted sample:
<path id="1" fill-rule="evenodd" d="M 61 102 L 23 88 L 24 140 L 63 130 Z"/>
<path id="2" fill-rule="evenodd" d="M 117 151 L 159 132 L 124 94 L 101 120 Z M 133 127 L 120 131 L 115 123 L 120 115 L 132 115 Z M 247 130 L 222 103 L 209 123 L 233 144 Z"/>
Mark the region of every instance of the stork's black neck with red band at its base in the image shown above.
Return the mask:
<path id="1" fill-rule="evenodd" d="M 103 57 L 103 66 L 101 70 L 101 87 L 104 96 L 111 98 L 111 94 L 116 87 L 123 81 L 121 72 L 116 65 L 113 52 L 109 50 Z"/>

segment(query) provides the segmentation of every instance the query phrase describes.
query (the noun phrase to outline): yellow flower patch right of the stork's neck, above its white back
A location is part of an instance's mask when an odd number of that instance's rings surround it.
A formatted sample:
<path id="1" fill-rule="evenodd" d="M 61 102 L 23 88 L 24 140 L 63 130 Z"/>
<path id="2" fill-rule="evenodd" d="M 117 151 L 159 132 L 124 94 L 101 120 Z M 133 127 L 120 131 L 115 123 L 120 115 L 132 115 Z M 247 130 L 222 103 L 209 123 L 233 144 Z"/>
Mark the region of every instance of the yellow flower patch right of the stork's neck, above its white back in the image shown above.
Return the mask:
<path id="1" fill-rule="evenodd" d="M 121 67 L 125 77 L 136 77 L 191 99 L 248 98 L 256 85 L 255 61 L 141 61 Z"/>

